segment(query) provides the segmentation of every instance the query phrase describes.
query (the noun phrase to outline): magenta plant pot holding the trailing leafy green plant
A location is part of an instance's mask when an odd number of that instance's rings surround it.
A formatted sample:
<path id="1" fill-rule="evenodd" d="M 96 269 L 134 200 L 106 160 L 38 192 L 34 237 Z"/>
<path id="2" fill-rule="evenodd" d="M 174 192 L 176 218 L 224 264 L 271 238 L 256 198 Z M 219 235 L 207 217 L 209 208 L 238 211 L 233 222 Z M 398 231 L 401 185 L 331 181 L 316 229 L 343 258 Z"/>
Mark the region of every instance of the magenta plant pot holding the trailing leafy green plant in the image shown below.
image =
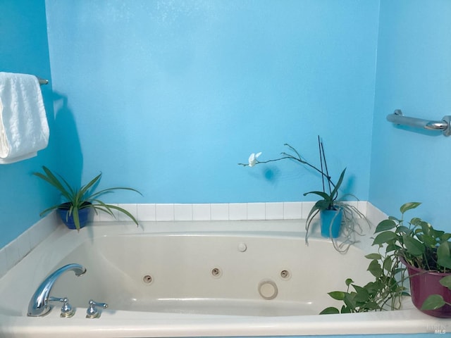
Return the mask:
<path id="1" fill-rule="evenodd" d="M 451 273 L 438 273 L 436 271 L 428 271 L 416 268 L 401 260 L 407 267 L 410 280 L 410 295 L 412 303 L 419 311 L 426 315 L 433 315 L 440 318 L 451 318 L 451 306 L 445 304 L 436 310 L 421 310 L 421 306 L 428 296 L 431 294 L 440 294 L 447 303 L 451 303 L 451 290 L 440 284 L 440 280 Z"/>

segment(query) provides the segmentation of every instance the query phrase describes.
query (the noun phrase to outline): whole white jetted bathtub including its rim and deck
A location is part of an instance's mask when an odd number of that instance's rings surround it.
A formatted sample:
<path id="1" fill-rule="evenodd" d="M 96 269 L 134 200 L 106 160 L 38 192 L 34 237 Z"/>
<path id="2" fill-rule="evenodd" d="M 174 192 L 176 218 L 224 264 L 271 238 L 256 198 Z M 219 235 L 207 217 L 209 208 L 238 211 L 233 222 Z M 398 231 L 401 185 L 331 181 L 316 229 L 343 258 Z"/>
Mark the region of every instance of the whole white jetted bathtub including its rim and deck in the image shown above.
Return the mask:
<path id="1" fill-rule="evenodd" d="M 304 244 L 299 220 L 94 223 L 77 233 L 58 228 L 0 280 L 0 337 L 214 337 L 415 333 L 451 330 L 450 320 L 416 311 L 318 315 L 340 306 L 327 295 L 371 278 L 363 248 L 342 255 L 328 240 Z M 51 296 L 58 304 L 27 317 L 30 297 L 57 268 L 68 271 Z M 109 308 L 85 318 L 89 299 Z"/>

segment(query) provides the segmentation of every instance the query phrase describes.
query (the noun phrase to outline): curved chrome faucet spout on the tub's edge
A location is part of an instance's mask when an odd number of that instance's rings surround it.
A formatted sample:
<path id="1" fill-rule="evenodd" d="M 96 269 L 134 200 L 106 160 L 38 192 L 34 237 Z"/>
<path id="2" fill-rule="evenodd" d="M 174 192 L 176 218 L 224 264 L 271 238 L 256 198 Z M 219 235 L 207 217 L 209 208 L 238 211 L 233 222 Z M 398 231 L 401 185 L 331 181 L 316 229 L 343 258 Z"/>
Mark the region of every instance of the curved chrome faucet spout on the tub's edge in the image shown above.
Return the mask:
<path id="1" fill-rule="evenodd" d="M 44 282 L 42 282 L 37 288 L 35 294 L 30 299 L 28 304 L 28 313 L 30 317 L 40 317 L 46 315 L 50 311 L 50 291 L 54 286 L 58 277 L 61 276 L 66 271 L 73 271 L 76 276 L 81 276 L 86 273 L 86 269 L 80 264 L 71 263 L 64 265 L 63 267 L 56 270 L 54 273 L 49 275 Z"/>

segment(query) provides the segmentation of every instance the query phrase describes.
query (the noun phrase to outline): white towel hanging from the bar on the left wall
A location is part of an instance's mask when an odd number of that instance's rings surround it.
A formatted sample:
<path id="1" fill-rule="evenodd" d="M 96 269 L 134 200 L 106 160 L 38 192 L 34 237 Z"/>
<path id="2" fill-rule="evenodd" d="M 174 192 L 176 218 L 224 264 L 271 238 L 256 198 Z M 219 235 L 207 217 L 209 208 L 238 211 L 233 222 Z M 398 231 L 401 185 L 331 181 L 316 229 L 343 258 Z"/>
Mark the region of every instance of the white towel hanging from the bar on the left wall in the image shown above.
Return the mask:
<path id="1" fill-rule="evenodd" d="M 0 164 L 37 155 L 49 144 L 49 125 L 35 75 L 0 72 Z"/>

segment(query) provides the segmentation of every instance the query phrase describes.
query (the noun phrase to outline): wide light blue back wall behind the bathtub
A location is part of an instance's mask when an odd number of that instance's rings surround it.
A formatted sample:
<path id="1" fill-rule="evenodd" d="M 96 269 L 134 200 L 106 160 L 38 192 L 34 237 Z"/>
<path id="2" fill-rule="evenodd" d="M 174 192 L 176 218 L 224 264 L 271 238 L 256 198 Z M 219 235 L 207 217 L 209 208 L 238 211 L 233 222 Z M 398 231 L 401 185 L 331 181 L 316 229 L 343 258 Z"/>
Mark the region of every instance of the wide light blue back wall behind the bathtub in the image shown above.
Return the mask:
<path id="1" fill-rule="evenodd" d="M 345 191 L 368 199 L 377 0 L 46 5 L 54 90 L 78 139 L 70 165 L 144 194 L 111 201 L 302 201 L 318 176 L 237 163 L 288 142 L 319 164 L 317 134 L 335 180 L 347 167 Z"/>

